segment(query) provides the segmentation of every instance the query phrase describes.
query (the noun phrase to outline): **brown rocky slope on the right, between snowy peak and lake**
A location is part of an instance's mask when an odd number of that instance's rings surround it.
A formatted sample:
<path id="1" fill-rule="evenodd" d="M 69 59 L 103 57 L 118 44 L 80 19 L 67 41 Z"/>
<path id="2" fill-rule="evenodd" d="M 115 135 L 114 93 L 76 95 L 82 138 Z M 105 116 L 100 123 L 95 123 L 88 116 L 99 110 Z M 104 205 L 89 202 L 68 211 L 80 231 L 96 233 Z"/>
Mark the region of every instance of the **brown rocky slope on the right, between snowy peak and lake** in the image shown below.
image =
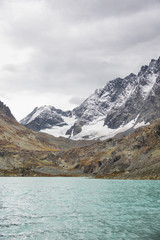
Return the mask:
<path id="1" fill-rule="evenodd" d="M 160 120 L 127 137 L 58 153 L 69 170 L 81 169 L 95 177 L 160 178 Z M 78 158 L 76 157 L 78 156 Z"/>

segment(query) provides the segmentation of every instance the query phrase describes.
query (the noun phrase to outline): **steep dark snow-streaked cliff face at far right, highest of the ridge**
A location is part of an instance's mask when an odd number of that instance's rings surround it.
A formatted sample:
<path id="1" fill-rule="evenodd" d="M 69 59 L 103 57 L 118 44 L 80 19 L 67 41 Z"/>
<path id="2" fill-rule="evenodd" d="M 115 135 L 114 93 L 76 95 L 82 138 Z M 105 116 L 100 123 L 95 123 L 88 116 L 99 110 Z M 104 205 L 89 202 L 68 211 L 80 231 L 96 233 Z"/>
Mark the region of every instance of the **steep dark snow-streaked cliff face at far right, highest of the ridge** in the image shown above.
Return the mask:
<path id="1" fill-rule="evenodd" d="M 127 79 L 128 86 L 132 78 Z M 144 66 L 134 77 L 133 85 L 129 87 L 128 96 L 123 104 L 116 109 L 114 106 L 107 114 L 105 125 L 117 128 L 137 117 L 136 123 L 151 122 L 160 117 L 160 58 L 152 60 L 149 66 Z"/>

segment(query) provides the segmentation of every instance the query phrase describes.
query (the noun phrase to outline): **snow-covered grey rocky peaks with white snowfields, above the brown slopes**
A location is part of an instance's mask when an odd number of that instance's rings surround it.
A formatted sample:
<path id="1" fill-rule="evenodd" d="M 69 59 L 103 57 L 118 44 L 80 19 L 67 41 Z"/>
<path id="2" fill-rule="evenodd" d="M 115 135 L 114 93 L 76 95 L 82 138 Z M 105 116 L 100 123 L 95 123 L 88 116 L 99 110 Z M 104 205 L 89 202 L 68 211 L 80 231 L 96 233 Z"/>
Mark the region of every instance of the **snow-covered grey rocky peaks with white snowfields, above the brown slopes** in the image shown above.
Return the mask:
<path id="1" fill-rule="evenodd" d="M 20 123 L 55 136 L 107 139 L 159 117 L 160 58 L 142 66 L 137 75 L 108 82 L 72 111 L 43 106 Z"/>

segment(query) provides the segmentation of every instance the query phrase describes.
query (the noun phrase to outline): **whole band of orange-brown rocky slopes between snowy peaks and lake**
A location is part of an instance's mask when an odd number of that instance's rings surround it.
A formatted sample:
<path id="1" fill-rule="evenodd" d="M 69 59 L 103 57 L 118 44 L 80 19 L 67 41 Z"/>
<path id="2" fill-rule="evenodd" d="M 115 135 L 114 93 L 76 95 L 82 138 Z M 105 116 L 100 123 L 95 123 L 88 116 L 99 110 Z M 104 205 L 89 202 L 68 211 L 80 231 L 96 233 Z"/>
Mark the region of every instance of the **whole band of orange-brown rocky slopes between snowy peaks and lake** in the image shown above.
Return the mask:
<path id="1" fill-rule="evenodd" d="M 20 125 L 0 102 L 0 176 L 160 178 L 160 120 L 123 138 L 73 141 Z"/>

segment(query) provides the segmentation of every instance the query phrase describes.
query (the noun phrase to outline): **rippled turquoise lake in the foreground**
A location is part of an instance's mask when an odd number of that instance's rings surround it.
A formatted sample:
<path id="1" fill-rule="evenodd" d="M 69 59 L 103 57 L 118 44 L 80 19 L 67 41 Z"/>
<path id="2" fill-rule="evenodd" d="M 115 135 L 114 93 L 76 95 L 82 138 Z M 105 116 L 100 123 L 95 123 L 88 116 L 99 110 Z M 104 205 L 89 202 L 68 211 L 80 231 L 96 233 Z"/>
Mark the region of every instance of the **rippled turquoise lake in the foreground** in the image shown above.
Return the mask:
<path id="1" fill-rule="evenodd" d="M 0 178 L 2 240 L 160 240 L 160 181 Z"/>

